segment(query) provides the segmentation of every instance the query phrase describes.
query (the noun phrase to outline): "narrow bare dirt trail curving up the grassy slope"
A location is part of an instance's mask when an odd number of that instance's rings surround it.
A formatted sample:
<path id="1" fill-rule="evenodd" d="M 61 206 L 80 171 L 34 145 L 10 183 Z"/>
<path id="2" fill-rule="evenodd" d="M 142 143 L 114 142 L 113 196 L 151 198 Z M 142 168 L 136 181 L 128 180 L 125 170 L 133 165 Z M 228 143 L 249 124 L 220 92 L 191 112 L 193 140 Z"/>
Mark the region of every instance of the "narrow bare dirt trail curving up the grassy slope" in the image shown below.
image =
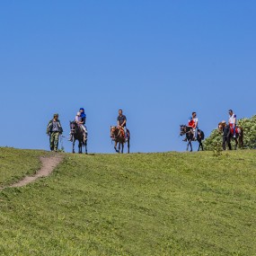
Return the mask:
<path id="1" fill-rule="evenodd" d="M 49 173 L 51 173 L 54 170 L 55 167 L 57 167 L 57 164 L 60 163 L 62 160 L 63 160 L 63 157 L 61 157 L 60 155 L 40 157 L 42 167 L 40 168 L 39 172 L 37 172 L 34 176 L 26 176 L 22 181 L 18 181 L 8 187 L 10 188 L 22 187 L 41 177 L 46 177 L 49 175 Z M 3 190 L 4 188 L 0 188 L 0 190 L 1 189 Z"/>

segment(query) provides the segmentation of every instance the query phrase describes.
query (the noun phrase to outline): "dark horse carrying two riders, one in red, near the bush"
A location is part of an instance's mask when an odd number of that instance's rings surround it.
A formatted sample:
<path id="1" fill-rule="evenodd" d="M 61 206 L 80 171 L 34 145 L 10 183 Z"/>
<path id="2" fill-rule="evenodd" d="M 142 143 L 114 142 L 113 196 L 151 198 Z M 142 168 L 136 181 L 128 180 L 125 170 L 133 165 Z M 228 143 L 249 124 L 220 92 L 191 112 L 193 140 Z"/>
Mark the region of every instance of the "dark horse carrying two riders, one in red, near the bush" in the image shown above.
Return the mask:
<path id="1" fill-rule="evenodd" d="M 193 128 L 190 128 L 186 125 L 180 125 L 180 136 L 186 135 L 186 138 L 184 141 L 188 141 L 188 145 L 187 145 L 187 151 L 189 150 L 189 146 L 190 146 L 190 152 L 193 151 L 192 149 L 192 143 L 191 141 L 194 141 L 193 137 L 194 137 L 194 132 L 193 132 Z M 202 144 L 202 140 L 205 138 L 205 134 L 202 130 L 198 129 L 198 136 L 197 136 L 197 141 L 199 142 L 199 149 L 200 147 L 202 149 L 202 151 L 204 150 L 203 144 Z"/>

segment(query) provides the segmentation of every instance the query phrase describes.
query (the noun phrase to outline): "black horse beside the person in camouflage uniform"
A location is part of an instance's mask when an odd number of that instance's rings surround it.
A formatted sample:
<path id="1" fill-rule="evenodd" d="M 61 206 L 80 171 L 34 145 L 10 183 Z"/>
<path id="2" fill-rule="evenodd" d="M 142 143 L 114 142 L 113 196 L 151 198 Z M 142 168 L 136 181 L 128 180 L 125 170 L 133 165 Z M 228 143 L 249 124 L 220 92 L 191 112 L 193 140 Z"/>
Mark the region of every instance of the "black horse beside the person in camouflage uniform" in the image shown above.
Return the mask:
<path id="1" fill-rule="evenodd" d="M 82 147 L 85 147 L 85 154 L 87 154 L 87 133 L 85 133 L 84 138 L 84 130 L 75 122 L 70 121 L 70 133 L 73 136 L 73 148 L 72 153 L 75 153 L 75 140 L 78 140 L 78 153 L 82 154 Z"/>

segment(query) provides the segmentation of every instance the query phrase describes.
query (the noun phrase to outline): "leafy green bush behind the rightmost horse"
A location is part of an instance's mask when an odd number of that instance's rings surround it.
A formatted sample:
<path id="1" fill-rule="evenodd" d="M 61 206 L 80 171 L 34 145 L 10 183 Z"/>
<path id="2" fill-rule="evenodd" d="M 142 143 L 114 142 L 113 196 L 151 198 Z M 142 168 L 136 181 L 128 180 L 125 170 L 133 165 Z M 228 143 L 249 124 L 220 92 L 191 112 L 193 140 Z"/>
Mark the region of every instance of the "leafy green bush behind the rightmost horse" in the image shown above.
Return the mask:
<path id="1" fill-rule="evenodd" d="M 243 148 L 256 148 L 256 115 L 251 119 L 238 119 L 237 124 L 243 128 Z M 217 128 L 214 129 L 203 144 L 205 150 L 216 151 L 216 145 L 222 146 L 222 133 Z M 234 148 L 234 140 L 231 145 Z"/>

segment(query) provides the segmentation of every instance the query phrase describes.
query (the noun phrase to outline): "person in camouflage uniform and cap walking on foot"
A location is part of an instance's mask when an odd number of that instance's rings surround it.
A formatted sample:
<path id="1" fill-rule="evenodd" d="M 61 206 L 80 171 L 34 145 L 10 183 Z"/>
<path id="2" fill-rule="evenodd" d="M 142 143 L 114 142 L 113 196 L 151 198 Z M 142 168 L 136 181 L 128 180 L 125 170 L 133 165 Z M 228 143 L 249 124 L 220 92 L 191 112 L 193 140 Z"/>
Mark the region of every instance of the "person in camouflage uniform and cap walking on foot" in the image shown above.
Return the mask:
<path id="1" fill-rule="evenodd" d="M 57 152 L 58 137 L 63 132 L 58 114 L 53 115 L 53 119 L 49 121 L 46 133 L 49 135 L 49 148 L 51 151 Z"/>

